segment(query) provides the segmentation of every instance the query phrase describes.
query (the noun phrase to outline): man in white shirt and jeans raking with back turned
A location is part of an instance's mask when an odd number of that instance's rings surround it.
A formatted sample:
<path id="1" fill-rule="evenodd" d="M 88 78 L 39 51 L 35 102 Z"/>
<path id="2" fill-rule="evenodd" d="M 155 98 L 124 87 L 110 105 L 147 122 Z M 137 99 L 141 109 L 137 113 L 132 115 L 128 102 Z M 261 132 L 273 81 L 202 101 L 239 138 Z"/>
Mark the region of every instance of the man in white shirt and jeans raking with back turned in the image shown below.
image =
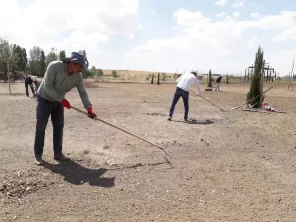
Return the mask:
<path id="1" fill-rule="evenodd" d="M 189 89 L 192 84 L 195 84 L 197 88 L 197 94 L 200 93 L 201 87 L 199 85 L 199 81 L 197 79 L 197 71 L 192 71 L 191 73 L 184 73 L 182 74 L 177 80 L 177 87 L 172 99 L 172 103 L 169 109 L 169 118 L 171 120 L 175 105 L 177 104 L 180 97 L 183 99 L 185 113 L 184 113 L 184 120 L 188 121 L 188 111 L 189 111 Z"/>

